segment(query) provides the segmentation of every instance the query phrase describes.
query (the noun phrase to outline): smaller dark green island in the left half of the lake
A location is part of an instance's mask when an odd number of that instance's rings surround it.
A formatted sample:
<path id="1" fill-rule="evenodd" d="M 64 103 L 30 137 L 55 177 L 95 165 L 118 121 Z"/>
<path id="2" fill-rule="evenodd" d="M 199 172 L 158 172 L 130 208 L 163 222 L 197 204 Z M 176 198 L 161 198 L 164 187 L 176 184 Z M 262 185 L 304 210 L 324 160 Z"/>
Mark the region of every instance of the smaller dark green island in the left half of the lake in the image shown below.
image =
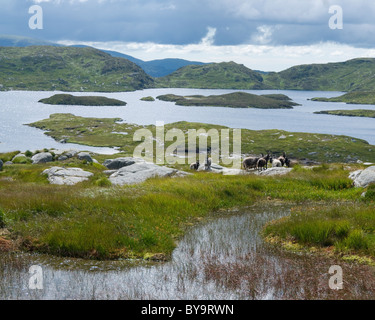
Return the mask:
<path id="1" fill-rule="evenodd" d="M 73 96 L 71 94 L 55 94 L 39 102 L 52 105 L 73 105 L 73 106 L 126 106 L 126 102 L 99 96 Z"/>

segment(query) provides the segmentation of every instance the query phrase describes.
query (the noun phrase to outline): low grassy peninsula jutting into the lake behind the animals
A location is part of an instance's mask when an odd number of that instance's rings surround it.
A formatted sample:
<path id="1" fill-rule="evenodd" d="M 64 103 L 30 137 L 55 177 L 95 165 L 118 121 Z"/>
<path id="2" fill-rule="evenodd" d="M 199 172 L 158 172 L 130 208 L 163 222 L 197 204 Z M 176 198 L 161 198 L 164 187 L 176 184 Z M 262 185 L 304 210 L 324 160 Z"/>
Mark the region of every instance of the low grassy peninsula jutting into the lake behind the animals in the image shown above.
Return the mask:
<path id="1" fill-rule="evenodd" d="M 154 132 L 155 126 L 140 126 L 119 122 L 116 118 L 84 118 L 73 114 L 52 114 L 49 119 L 30 124 L 46 131 L 46 135 L 57 141 L 66 139 L 69 143 L 78 143 L 95 147 L 119 147 L 132 154 L 139 142 L 133 141 L 133 134 L 140 128 Z M 68 125 L 67 125 L 68 124 Z M 202 128 L 226 129 L 227 127 L 204 123 L 177 122 L 165 125 L 187 132 L 189 129 Z M 119 134 L 126 132 L 127 134 Z M 288 153 L 289 157 L 310 159 L 316 162 L 355 162 L 357 160 L 375 162 L 375 147 L 361 139 L 329 134 L 287 132 L 283 130 L 243 129 L 242 153 L 260 154 L 271 151 L 276 154 Z M 231 140 L 231 139 L 230 139 Z M 231 140 L 232 141 L 232 140 Z M 210 141 L 209 145 L 210 145 Z M 166 147 L 172 142 L 167 142 Z"/>

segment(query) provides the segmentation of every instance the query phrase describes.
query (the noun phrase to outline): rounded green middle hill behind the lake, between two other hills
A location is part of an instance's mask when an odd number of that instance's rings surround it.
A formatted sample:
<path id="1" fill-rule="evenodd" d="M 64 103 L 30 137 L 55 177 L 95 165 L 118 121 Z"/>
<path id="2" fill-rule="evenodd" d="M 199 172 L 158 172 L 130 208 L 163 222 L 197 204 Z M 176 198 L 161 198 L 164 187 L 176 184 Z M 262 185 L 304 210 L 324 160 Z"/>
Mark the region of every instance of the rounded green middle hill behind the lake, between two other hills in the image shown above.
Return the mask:
<path id="1" fill-rule="evenodd" d="M 164 88 L 267 89 L 262 75 L 235 62 L 189 65 L 155 82 Z"/>

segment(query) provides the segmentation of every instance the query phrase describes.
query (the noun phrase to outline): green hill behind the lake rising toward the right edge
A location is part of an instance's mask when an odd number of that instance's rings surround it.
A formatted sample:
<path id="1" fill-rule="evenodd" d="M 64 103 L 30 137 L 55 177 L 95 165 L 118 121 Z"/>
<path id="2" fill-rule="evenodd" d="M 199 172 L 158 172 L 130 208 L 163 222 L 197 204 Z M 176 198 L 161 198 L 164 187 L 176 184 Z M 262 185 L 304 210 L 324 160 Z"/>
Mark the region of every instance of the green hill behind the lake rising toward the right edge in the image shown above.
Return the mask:
<path id="1" fill-rule="evenodd" d="M 375 59 L 359 58 L 346 62 L 309 64 L 263 75 L 273 89 L 323 91 L 373 91 Z"/>

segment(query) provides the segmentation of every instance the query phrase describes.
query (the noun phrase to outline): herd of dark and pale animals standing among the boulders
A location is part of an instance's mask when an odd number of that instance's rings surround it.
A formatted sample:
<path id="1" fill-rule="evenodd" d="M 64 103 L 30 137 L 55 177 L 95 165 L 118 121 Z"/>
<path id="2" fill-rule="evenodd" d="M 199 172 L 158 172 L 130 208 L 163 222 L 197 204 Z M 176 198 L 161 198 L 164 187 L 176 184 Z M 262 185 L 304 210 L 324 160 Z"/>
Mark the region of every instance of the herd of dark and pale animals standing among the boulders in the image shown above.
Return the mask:
<path id="1" fill-rule="evenodd" d="M 257 169 L 258 171 L 268 169 L 268 162 L 272 165 L 273 168 L 275 167 L 283 167 L 284 165 L 288 168 L 295 166 L 298 164 L 298 161 L 289 159 L 285 152 L 283 155 L 276 158 L 275 156 L 271 156 L 269 153 L 264 156 L 262 153 L 261 157 L 247 157 L 243 160 L 242 166 L 247 171 L 248 169 Z M 198 170 L 200 166 L 199 160 L 195 163 L 190 165 L 191 170 Z M 206 163 L 205 163 L 205 170 L 210 169 L 211 167 L 211 158 L 207 156 Z"/>

